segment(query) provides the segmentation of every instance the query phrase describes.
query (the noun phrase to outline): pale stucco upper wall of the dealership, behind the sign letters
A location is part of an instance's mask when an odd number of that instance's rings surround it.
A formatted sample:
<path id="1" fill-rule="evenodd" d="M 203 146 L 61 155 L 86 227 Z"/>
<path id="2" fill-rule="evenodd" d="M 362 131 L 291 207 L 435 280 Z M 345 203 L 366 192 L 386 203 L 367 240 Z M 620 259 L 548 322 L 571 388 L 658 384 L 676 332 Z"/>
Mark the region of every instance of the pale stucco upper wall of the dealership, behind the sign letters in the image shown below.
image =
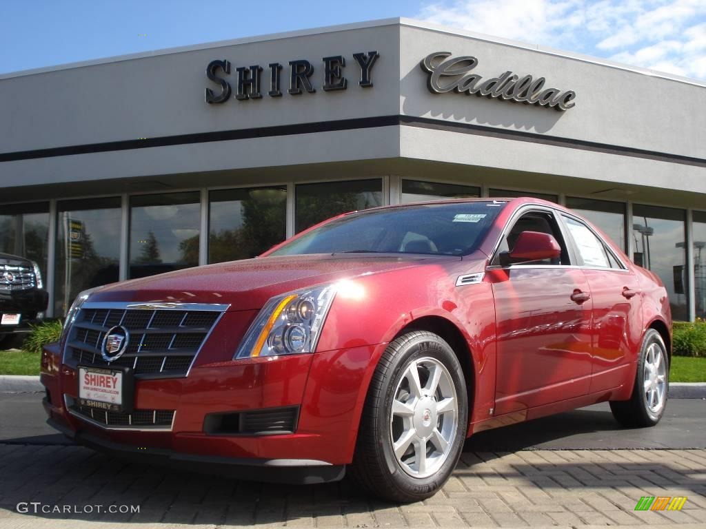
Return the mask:
<path id="1" fill-rule="evenodd" d="M 373 67 L 374 86 L 362 88 L 352 54 L 372 50 L 380 54 Z M 542 75 L 547 86 L 574 90 L 576 106 L 558 112 L 473 95 L 432 94 L 419 61 L 433 51 L 476 56 L 475 72 L 484 78 L 507 70 Z M 339 54 L 346 59 L 348 88 L 324 92 L 322 58 Z M 214 59 L 232 63 L 228 79 L 234 90 L 235 68 L 261 65 L 263 98 L 240 102 L 232 96 L 224 104 L 205 104 L 205 87 L 217 90 L 205 77 L 205 68 Z M 287 94 L 288 61 L 294 59 L 313 64 L 316 93 Z M 283 65 L 282 97 L 265 93 L 271 62 Z M 402 115 L 703 162 L 705 108 L 703 83 L 409 20 L 383 20 L 0 75 L 0 156 L 137 138 Z M 680 186 L 706 193 L 703 163 L 659 162 L 585 150 L 575 143 L 538 145 L 419 126 L 19 159 L 0 162 L 0 185 L 26 187 L 396 157 L 594 179 L 597 187 L 611 182 Z"/>

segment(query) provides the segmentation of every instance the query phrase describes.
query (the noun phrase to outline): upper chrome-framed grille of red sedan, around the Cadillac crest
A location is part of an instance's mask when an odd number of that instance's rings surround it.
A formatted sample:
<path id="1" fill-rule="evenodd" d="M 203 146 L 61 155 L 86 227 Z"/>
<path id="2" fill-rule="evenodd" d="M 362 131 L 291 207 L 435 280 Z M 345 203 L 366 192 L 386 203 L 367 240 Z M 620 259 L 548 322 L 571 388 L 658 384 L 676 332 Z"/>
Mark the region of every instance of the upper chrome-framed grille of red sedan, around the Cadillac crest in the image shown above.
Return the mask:
<path id="1" fill-rule="evenodd" d="M 182 306 L 82 308 L 68 334 L 64 363 L 131 367 L 137 378 L 183 377 L 222 312 Z M 123 355 L 107 362 L 102 357 L 103 339 L 117 325 L 127 329 L 130 338 Z"/>

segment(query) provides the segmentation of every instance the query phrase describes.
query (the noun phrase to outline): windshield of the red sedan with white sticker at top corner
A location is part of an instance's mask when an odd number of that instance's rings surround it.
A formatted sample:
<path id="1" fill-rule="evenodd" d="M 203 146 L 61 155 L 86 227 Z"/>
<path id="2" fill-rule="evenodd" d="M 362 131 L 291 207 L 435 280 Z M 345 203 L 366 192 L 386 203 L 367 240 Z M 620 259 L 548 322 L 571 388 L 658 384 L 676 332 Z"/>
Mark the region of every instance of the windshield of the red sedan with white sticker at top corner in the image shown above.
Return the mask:
<path id="1" fill-rule="evenodd" d="M 415 253 L 466 255 L 477 248 L 504 203 L 443 202 L 346 215 L 270 255 Z"/>

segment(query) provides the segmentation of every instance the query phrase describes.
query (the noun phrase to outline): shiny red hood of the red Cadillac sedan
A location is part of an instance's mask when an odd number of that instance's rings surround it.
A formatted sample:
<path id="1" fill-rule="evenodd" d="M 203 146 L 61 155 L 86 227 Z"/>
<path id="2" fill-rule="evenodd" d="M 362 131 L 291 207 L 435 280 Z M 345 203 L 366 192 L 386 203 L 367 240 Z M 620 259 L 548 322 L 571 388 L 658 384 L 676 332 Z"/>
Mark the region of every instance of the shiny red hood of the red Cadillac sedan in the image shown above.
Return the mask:
<path id="1" fill-rule="evenodd" d="M 325 254 L 261 257 L 133 279 L 100 288 L 90 301 L 218 303 L 229 310 L 256 310 L 281 293 L 339 279 L 461 260 L 398 254 Z"/>

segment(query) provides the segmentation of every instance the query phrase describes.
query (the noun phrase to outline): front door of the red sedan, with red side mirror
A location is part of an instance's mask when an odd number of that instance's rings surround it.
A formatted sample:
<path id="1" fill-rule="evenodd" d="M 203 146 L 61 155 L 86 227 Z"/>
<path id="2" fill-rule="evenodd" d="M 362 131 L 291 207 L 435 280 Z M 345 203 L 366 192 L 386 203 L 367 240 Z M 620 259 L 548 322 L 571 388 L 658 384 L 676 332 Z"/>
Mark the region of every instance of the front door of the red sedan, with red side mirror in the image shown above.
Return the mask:
<path id="1" fill-rule="evenodd" d="M 555 262 L 503 267 L 493 260 L 497 324 L 496 415 L 524 411 L 588 393 L 591 376 L 592 299 L 570 255 L 554 212 L 522 214 L 501 248 L 522 231 L 549 233 L 561 245 Z"/>

